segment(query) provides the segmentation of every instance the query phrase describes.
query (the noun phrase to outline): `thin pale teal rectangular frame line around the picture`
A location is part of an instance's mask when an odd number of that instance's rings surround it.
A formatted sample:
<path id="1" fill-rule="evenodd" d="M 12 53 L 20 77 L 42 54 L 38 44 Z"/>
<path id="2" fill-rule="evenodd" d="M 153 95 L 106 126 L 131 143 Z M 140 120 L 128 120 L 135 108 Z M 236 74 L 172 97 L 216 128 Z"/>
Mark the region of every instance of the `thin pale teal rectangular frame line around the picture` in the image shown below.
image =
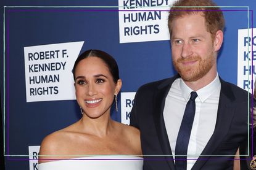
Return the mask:
<path id="1" fill-rule="evenodd" d="M 4 83 L 4 89 L 3 89 L 3 122 L 4 122 L 4 156 L 33 156 L 33 155 L 6 155 L 5 152 L 6 152 L 6 68 L 5 68 L 5 65 L 6 65 L 6 8 L 11 8 L 11 9 L 15 9 L 15 8 L 52 8 L 52 9 L 56 9 L 56 8 L 124 8 L 125 6 L 4 6 L 4 19 L 3 19 L 3 83 Z M 134 9 L 134 11 L 138 10 L 138 8 L 141 8 L 141 9 L 148 9 L 148 8 L 152 8 L 152 7 L 131 7 L 131 6 L 128 6 L 130 7 L 131 9 Z M 126 8 L 128 8 L 126 6 Z M 154 8 L 165 8 L 165 7 L 168 7 L 170 9 L 170 7 L 184 7 L 184 8 L 192 8 L 194 6 L 155 6 Z M 196 7 L 215 7 L 215 6 L 196 6 Z M 220 8 L 247 8 L 247 33 L 248 33 L 248 37 L 249 37 L 249 6 L 217 6 L 217 7 L 220 7 Z M 122 12 L 125 12 L 125 11 L 122 11 Z M 251 28 L 251 29 L 254 29 L 254 28 Z M 253 46 L 253 45 L 252 45 Z M 249 53 L 249 45 L 247 45 L 247 52 Z M 249 60 L 248 60 L 248 66 L 249 66 Z M 247 72 L 247 77 L 248 77 L 248 80 L 249 80 L 249 72 Z M 249 92 L 250 88 L 248 89 L 248 132 L 247 132 L 247 139 L 248 139 L 248 150 L 249 150 L 249 110 L 250 110 L 250 105 L 249 105 Z M 252 89 L 253 90 L 253 89 Z M 46 155 L 42 155 L 42 156 L 46 156 Z M 58 155 L 54 155 L 54 156 L 58 156 Z M 92 156 L 92 155 L 70 155 L 70 156 Z M 144 156 L 172 156 L 172 155 L 144 155 Z M 202 155 L 202 156 L 234 156 L 234 155 Z M 249 156 L 249 153 L 247 155 L 239 155 L 239 156 Z"/>

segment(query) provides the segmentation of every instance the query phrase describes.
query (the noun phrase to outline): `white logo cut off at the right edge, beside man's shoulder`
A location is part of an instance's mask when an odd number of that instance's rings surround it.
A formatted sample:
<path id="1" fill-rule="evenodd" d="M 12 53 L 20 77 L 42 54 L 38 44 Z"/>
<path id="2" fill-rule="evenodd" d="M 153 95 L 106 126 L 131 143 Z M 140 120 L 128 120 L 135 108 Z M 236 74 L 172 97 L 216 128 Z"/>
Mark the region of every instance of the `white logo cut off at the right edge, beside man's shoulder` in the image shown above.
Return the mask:
<path id="1" fill-rule="evenodd" d="M 253 29 L 256 33 L 256 28 Z M 253 50 L 252 50 L 253 47 Z M 256 36 L 252 37 L 252 29 L 238 29 L 238 52 L 237 52 L 237 86 L 245 90 L 252 88 L 252 74 L 256 75 Z"/>

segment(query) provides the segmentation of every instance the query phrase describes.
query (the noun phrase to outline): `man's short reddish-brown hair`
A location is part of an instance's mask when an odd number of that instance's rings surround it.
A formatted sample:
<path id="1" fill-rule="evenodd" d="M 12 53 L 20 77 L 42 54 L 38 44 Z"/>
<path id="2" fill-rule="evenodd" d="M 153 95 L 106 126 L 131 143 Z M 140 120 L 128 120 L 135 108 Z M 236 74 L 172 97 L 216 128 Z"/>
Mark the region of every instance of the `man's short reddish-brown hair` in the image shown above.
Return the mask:
<path id="1" fill-rule="evenodd" d="M 219 7 L 217 7 L 217 4 L 211 0 L 178 0 L 173 4 L 173 6 L 176 7 L 171 7 L 168 17 L 170 37 L 171 25 L 175 18 L 183 17 L 184 15 L 196 14 L 198 12 L 202 12 L 205 18 L 207 31 L 212 34 L 212 37 L 215 37 L 215 34 L 218 30 L 223 31 L 225 27 L 225 19 L 223 17 L 222 11 Z"/>

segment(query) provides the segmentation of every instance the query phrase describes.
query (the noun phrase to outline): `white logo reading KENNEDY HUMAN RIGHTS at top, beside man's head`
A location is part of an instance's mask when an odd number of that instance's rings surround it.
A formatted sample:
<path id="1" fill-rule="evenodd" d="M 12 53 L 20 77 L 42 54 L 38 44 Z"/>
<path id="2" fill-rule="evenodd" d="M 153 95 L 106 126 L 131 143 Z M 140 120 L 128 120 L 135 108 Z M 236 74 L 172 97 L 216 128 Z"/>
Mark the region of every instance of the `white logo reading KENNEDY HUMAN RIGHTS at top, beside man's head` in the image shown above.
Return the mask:
<path id="1" fill-rule="evenodd" d="M 160 10 L 169 10 L 174 1 L 118 0 L 120 43 L 169 40 L 168 11 Z"/>

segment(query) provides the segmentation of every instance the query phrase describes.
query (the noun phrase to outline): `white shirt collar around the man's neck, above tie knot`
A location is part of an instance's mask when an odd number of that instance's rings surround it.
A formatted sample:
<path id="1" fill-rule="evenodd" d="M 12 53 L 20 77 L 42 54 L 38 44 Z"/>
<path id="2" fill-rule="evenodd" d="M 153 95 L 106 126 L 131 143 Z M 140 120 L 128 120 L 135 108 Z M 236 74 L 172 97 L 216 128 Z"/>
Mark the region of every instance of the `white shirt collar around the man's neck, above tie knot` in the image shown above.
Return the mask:
<path id="1" fill-rule="evenodd" d="M 208 85 L 206 85 L 203 88 L 200 88 L 196 91 L 198 98 L 201 102 L 204 102 L 207 98 L 209 98 L 213 93 L 215 93 L 218 88 L 220 88 L 220 78 L 218 77 L 218 73 L 215 77 L 215 79 L 210 82 Z M 193 91 L 191 88 L 186 85 L 186 83 L 183 81 L 183 79 L 180 80 L 180 88 L 181 91 L 183 91 L 183 97 L 185 101 L 188 101 L 190 98 L 190 93 Z"/>

